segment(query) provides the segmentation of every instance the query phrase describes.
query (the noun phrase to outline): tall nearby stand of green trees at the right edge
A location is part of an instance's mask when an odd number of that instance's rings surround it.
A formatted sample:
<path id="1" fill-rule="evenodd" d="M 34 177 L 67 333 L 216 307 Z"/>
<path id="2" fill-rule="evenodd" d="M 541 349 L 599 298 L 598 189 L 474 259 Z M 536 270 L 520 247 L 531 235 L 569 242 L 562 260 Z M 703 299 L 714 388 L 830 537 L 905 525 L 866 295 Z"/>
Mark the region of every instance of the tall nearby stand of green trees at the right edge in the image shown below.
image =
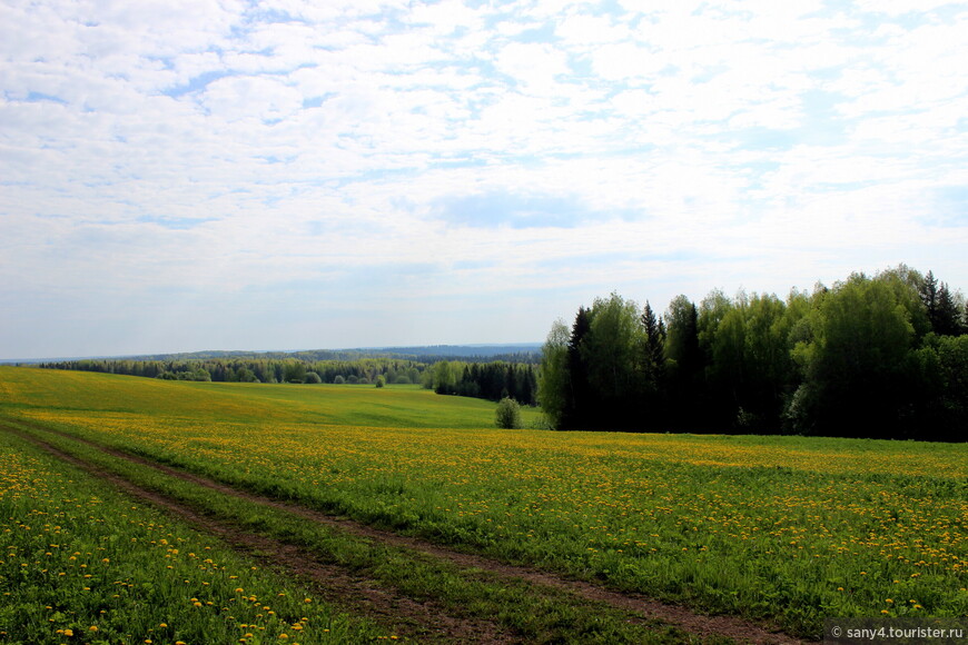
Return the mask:
<path id="1" fill-rule="evenodd" d="M 612 294 L 559 320 L 539 401 L 560 429 L 968 440 L 968 310 L 903 265 L 812 292 L 720 290 L 664 315 Z"/>

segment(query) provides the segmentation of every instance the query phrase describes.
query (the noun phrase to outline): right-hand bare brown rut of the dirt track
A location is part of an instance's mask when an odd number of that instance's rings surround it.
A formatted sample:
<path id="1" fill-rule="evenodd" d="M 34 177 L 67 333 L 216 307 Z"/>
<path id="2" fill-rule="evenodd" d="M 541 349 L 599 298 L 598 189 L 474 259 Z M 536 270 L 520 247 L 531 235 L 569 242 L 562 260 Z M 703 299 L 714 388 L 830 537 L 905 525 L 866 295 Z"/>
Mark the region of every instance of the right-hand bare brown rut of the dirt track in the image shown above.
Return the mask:
<path id="1" fill-rule="evenodd" d="M 118 448 L 103 446 L 90 439 L 78 437 L 61 430 L 55 430 L 42 426 L 34 426 L 42 431 L 53 433 L 66 438 L 82 443 L 90 447 L 97 448 L 111 456 L 126 459 L 140 466 L 146 466 L 165 473 L 166 475 L 217 490 L 225 495 L 260 504 L 270 508 L 276 508 L 292 513 L 294 515 L 310 519 L 313 522 L 335 527 L 357 537 L 368 538 L 375 542 L 388 544 L 392 546 L 403 547 L 417 553 L 422 553 L 432 557 L 444 559 L 456 564 L 463 568 L 477 568 L 510 578 L 522 579 L 535 585 L 553 587 L 556 589 L 570 592 L 577 596 L 592 602 L 605 603 L 615 608 L 631 612 L 646 619 L 661 621 L 662 623 L 675 626 L 683 632 L 693 634 L 701 638 L 722 637 L 733 638 L 741 643 L 753 643 L 757 645 L 802 645 L 813 643 L 812 641 L 803 641 L 796 638 L 780 631 L 770 631 L 758 624 L 751 623 L 738 616 L 709 616 L 698 614 L 680 605 L 662 603 L 648 596 L 634 593 L 620 593 L 604 588 L 585 580 L 576 580 L 565 578 L 561 575 L 550 572 L 542 572 L 525 566 L 511 565 L 493 558 L 461 553 L 438 544 L 427 542 L 425 539 L 399 535 L 389 530 L 374 528 L 359 522 L 345 517 L 327 515 L 319 510 L 314 510 L 297 504 L 280 502 L 271 497 L 258 495 L 247 490 L 241 490 L 228 486 L 226 484 L 201 477 L 192 473 L 187 473 L 152 462 L 145 457 L 132 455 Z"/>

